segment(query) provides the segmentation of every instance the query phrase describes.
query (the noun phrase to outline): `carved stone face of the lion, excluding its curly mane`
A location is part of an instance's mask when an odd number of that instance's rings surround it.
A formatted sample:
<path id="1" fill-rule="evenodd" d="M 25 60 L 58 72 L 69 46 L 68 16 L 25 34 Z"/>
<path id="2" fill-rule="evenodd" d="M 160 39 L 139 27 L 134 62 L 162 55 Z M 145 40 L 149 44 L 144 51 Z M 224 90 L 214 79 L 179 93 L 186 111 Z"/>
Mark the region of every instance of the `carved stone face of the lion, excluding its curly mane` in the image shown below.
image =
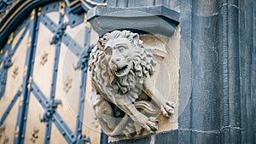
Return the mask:
<path id="1" fill-rule="evenodd" d="M 127 38 L 109 40 L 103 49 L 111 71 L 117 77 L 126 76 L 132 68 L 132 56 L 137 49 Z"/>

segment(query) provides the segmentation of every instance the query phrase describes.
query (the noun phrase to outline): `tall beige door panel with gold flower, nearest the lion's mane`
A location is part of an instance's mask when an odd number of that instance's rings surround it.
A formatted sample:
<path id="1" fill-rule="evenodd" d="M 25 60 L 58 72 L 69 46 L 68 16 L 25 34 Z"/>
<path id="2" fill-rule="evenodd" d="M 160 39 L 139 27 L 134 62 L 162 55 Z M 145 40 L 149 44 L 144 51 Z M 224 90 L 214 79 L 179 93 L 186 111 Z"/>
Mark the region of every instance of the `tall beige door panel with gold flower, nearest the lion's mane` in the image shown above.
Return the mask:
<path id="1" fill-rule="evenodd" d="M 76 105 L 77 101 L 79 101 L 79 89 L 75 90 L 76 88 L 75 83 L 73 81 L 73 78 L 79 77 L 79 73 L 77 75 L 73 74 L 73 62 L 76 61 L 78 58 L 76 56 L 73 57 L 71 60 L 66 60 L 67 53 L 71 53 L 69 49 L 67 49 L 66 45 L 61 43 L 61 53 L 60 53 L 60 63 L 58 67 L 58 74 L 57 74 L 57 82 L 56 82 L 56 91 L 55 91 L 55 100 L 61 100 L 61 107 L 58 107 L 56 109 L 56 112 L 59 112 L 61 117 L 63 118 L 64 122 L 69 126 L 71 130 L 75 130 L 76 126 L 76 117 L 74 110 L 77 109 L 77 107 L 73 106 L 73 111 L 69 107 L 71 104 L 68 103 L 66 100 L 67 97 L 72 96 L 71 99 L 73 99 L 73 105 Z M 65 66 L 64 66 L 65 65 Z M 67 74 L 64 75 L 63 68 L 67 67 Z M 71 73 L 69 73 L 71 72 Z M 76 73 L 76 72 L 74 72 Z M 70 84 L 72 85 L 70 89 L 65 87 L 65 83 L 68 83 L 69 78 L 71 79 Z M 74 79 L 75 80 L 75 79 Z M 77 81 L 77 80 L 76 80 Z M 78 83 L 79 84 L 79 83 Z M 65 89 L 68 89 L 67 93 Z M 71 94 L 71 91 L 74 92 L 72 95 L 68 95 L 68 93 Z M 65 95 L 68 95 L 67 97 Z M 70 99 L 70 98 L 68 98 Z"/>

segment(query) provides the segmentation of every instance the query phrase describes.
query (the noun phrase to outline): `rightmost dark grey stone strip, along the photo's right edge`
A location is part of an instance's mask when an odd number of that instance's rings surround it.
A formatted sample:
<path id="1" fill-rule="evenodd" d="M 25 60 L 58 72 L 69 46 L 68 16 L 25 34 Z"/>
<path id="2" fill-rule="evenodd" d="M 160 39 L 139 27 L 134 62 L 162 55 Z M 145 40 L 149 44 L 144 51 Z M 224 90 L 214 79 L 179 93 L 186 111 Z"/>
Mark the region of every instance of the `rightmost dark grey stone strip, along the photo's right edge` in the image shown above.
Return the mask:
<path id="1" fill-rule="evenodd" d="M 255 143 L 255 1 L 239 3 L 239 60 L 241 90 L 241 143 Z M 253 14 L 254 13 L 254 14 Z M 236 131 L 233 132 L 236 134 Z"/>

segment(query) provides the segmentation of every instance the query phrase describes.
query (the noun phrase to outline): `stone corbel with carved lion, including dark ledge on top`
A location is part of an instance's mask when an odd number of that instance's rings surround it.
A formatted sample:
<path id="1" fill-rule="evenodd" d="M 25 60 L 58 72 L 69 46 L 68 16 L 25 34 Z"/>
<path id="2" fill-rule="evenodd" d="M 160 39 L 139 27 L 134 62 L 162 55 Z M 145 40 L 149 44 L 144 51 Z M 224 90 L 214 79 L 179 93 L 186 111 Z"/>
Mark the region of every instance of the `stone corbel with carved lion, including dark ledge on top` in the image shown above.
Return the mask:
<path id="1" fill-rule="evenodd" d="M 177 129 L 179 13 L 125 2 L 90 9 L 87 19 L 100 37 L 89 61 L 92 102 L 110 141 Z"/>

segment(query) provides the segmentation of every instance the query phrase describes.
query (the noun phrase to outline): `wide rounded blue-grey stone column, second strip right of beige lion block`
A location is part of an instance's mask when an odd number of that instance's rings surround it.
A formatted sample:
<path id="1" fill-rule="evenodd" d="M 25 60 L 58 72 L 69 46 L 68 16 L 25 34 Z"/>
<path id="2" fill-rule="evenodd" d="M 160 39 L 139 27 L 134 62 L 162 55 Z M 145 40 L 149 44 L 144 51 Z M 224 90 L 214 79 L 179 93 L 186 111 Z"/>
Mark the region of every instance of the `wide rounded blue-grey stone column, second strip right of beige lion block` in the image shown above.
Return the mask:
<path id="1" fill-rule="evenodd" d="M 193 1 L 192 10 L 191 129 L 197 143 L 215 139 L 210 134 L 220 130 L 218 2 Z M 204 132 L 210 134 L 204 137 Z"/>

